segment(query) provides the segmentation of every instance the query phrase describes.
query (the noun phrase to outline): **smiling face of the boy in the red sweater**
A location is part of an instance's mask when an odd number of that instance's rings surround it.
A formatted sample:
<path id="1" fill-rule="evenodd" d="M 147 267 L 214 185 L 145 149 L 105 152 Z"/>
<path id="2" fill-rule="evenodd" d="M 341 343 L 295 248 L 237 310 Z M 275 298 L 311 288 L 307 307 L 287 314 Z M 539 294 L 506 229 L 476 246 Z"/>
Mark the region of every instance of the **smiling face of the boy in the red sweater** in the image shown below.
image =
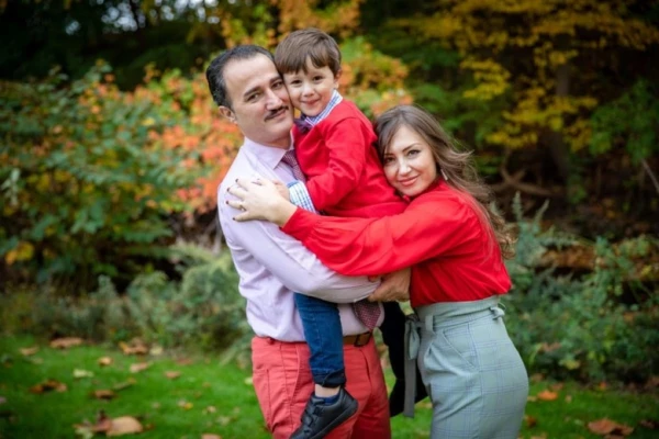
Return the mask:
<path id="1" fill-rule="evenodd" d="M 302 70 L 283 74 L 291 103 L 308 116 L 317 116 L 330 103 L 338 87 L 340 70 L 334 75 L 330 67 L 315 67 L 306 58 L 306 74 Z"/>

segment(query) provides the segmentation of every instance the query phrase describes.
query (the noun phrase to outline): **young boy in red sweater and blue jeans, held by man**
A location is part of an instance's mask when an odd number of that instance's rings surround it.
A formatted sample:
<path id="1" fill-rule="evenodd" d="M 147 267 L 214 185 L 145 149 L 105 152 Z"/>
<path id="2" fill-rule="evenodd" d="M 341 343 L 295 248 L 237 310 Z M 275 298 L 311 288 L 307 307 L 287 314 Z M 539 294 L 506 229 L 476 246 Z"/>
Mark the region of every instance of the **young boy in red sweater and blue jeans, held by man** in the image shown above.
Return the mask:
<path id="1" fill-rule="evenodd" d="M 293 106 L 302 113 L 293 138 L 306 181 L 300 176 L 301 182 L 289 185 L 291 201 L 333 216 L 379 217 L 402 212 L 405 204 L 384 178 L 370 121 L 336 90 L 342 71 L 336 42 L 316 29 L 293 32 L 277 47 L 275 64 Z M 288 160 L 284 156 L 283 161 Z M 294 164 L 289 165 L 295 171 Z M 373 311 L 376 304 L 364 302 L 355 304 L 355 312 L 369 331 L 354 341 L 357 346 L 368 341 L 380 312 L 379 307 Z M 292 438 L 322 437 L 348 419 L 357 410 L 357 402 L 345 391 L 344 341 L 336 304 L 295 293 L 295 305 L 311 351 L 315 390 Z M 398 331 L 402 340 L 402 312 L 394 302 L 387 307 L 388 315 L 398 314 L 399 318 L 396 324 L 382 326 Z M 383 336 L 387 342 L 387 334 Z M 402 345 L 398 354 L 402 358 Z"/>

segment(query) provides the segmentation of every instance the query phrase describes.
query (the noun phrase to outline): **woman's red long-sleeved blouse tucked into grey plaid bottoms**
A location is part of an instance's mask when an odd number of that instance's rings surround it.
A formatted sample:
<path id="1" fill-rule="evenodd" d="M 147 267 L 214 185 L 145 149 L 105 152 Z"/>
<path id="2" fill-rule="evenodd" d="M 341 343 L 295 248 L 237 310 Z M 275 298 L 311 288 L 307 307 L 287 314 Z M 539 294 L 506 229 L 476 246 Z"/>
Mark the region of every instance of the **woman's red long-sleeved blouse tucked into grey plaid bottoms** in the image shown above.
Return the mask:
<path id="1" fill-rule="evenodd" d="M 412 267 L 412 306 L 505 294 L 511 280 L 474 201 L 442 182 L 398 215 L 337 218 L 298 209 L 282 227 L 327 267 L 378 275 Z"/>

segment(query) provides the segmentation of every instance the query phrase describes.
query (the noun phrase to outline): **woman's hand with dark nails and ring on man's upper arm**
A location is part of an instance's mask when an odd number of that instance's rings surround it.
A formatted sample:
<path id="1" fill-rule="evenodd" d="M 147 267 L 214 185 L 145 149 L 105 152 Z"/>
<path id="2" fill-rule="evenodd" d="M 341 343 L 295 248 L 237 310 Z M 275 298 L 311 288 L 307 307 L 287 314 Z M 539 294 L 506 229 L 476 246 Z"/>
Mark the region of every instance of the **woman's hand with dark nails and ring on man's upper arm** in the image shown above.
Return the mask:
<path id="1" fill-rule="evenodd" d="M 238 200 L 227 200 L 226 204 L 242 211 L 235 221 L 266 219 L 282 226 L 295 213 L 297 207 L 269 180 L 241 178 L 228 188 L 228 193 Z"/>

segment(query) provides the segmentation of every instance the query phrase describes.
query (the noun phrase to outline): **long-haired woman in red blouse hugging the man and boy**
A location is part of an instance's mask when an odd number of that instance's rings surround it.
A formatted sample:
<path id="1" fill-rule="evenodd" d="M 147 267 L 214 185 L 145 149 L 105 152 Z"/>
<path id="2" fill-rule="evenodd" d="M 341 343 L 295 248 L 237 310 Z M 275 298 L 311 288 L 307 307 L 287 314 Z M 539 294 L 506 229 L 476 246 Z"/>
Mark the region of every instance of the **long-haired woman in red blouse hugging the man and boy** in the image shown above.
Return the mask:
<path id="1" fill-rule="evenodd" d="M 238 180 L 230 189 L 238 198 L 230 205 L 243 211 L 235 219 L 280 225 L 342 274 L 412 267 L 409 354 L 433 402 L 431 437 L 516 438 L 528 379 L 499 306 L 511 286 L 502 256 L 512 256 L 512 238 L 469 154 L 433 116 L 396 106 L 375 127 L 384 175 L 410 202 L 402 214 L 319 216 L 279 196 L 272 182 Z"/>

